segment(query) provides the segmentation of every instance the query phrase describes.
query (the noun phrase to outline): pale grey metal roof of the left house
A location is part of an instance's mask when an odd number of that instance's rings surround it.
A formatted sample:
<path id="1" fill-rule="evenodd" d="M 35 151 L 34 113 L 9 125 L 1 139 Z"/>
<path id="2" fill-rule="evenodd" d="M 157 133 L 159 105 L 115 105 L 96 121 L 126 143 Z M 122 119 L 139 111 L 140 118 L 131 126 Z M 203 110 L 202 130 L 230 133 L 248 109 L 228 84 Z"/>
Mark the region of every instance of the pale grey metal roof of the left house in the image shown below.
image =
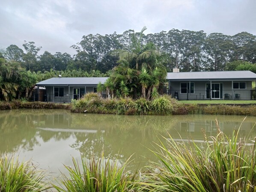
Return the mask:
<path id="1" fill-rule="evenodd" d="M 104 83 L 108 77 L 53 77 L 48 80 L 36 83 L 38 86 L 51 85 L 97 85 Z"/>

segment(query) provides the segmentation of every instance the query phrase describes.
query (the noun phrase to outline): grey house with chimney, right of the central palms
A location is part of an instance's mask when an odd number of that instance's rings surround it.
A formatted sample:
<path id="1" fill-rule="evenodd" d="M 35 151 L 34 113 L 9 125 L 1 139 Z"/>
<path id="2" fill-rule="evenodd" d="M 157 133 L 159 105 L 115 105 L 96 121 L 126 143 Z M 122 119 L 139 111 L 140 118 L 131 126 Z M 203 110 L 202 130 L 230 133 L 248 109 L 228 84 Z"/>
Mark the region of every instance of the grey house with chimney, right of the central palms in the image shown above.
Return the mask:
<path id="1" fill-rule="evenodd" d="M 255 100 L 256 74 L 251 71 L 167 73 L 169 94 L 179 100 Z"/>

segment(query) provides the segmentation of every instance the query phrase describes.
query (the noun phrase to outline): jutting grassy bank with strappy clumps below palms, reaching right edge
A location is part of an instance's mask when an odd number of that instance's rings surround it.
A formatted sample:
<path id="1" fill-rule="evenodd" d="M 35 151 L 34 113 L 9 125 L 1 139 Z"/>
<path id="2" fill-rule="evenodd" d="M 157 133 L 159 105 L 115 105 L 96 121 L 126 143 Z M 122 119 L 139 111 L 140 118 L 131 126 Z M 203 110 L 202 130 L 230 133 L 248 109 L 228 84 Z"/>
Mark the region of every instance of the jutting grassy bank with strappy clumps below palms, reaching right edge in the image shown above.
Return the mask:
<path id="1" fill-rule="evenodd" d="M 89 112 L 125 115 L 251 115 L 256 116 L 256 105 L 228 104 L 190 104 L 180 103 L 176 99 L 164 95 L 154 100 L 140 98 L 103 99 L 97 94 L 87 94 L 80 100 L 74 100 L 72 112 Z"/>

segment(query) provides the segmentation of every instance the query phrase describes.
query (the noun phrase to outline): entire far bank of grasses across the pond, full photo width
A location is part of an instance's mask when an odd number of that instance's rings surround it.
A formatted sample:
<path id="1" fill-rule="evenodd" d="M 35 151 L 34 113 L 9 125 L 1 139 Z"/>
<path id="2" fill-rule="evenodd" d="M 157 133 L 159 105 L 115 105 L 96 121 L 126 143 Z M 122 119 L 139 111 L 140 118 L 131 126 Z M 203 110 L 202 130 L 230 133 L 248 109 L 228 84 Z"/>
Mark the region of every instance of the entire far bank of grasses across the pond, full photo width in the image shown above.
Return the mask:
<path id="1" fill-rule="evenodd" d="M 86 94 L 80 100 L 70 104 L 45 102 L 1 102 L 0 110 L 5 109 L 68 109 L 71 112 L 100 113 L 119 115 L 250 115 L 256 116 L 254 101 L 229 100 L 189 100 L 177 101 L 169 95 L 154 100 L 130 97 L 104 99 L 96 93 Z"/>

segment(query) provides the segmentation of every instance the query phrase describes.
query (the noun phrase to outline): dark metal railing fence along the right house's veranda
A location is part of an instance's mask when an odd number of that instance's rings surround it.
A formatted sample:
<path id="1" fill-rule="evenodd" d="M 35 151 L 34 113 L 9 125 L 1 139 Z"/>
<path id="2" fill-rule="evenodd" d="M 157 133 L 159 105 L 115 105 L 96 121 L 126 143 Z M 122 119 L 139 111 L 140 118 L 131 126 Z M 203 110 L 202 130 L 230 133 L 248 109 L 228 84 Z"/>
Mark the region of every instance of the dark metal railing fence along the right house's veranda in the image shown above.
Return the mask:
<path id="1" fill-rule="evenodd" d="M 223 90 L 168 90 L 178 100 L 256 100 L 255 89 L 223 89 Z"/>

